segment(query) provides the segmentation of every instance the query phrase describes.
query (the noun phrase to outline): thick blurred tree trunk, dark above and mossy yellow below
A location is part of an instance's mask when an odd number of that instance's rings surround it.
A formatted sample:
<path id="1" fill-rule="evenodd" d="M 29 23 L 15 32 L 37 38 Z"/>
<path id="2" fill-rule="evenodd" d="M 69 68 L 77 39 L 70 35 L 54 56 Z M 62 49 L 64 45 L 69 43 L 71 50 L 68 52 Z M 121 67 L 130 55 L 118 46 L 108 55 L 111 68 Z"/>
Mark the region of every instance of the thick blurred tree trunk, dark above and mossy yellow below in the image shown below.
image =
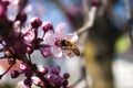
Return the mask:
<path id="1" fill-rule="evenodd" d="M 114 88 L 112 62 L 114 44 L 122 32 L 110 21 L 109 9 L 96 16 L 85 41 L 84 58 L 86 73 L 92 77 L 92 88 Z"/>

